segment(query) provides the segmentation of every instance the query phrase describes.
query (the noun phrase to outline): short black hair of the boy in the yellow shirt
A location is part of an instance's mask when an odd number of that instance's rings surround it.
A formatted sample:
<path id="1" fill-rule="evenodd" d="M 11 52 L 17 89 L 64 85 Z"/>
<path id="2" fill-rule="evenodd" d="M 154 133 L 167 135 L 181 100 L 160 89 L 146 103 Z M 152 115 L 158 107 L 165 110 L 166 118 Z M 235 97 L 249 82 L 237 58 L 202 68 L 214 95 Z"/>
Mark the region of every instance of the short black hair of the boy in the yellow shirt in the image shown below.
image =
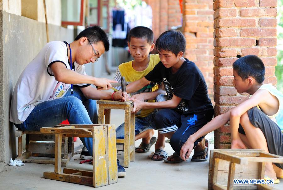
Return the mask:
<path id="1" fill-rule="evenodd" d="M 137 38 L 147 39 L 147 43 L 150 45 L 153 43 L 153 31 L 150 28 L 147 28 L 145 26 L 136 26 L 135 28 L 132 28 L 128 35 L 128 41 L 130 43 L 131 38 Z"/>

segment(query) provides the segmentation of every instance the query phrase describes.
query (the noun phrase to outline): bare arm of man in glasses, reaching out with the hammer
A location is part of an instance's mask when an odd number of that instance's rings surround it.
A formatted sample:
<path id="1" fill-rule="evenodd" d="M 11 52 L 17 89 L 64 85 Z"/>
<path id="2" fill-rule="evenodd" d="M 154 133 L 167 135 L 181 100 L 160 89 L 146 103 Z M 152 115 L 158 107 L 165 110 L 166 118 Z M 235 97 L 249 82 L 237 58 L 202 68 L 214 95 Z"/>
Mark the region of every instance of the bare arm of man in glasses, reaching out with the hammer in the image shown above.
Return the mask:
<path id="1" fill-rule="evenodd" d="M 102 90 L 108 90 L 112 86 L 110 82 L 116 82 L 108 80 L 106 78 L 96 78 L 88 75 L 82 75 L 75 71 L 67 69 L 61 62 L 53 63 L 50 68 L 54 74 L 56 81 L 63 82 L 65 84 L 94 84 L 95 86 L 102 87 Z"/>

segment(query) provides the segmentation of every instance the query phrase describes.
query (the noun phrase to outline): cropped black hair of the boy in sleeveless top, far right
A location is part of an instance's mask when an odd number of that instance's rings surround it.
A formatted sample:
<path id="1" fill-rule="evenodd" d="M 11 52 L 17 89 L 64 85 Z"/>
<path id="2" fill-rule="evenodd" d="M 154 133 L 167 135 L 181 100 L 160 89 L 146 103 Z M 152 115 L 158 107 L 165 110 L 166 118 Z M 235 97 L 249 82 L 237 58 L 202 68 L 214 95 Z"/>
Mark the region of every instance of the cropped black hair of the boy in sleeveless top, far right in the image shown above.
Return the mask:
<path id="1" fill-rule="evenodd" d="M 264 82 L 264 63 L 256 55 L 247 55 L 237 59 L 233 63 L 233 69 L 238 73 L 242 80 L 246 80 L 248 77 L 253 77 L 259 84 Z"/>

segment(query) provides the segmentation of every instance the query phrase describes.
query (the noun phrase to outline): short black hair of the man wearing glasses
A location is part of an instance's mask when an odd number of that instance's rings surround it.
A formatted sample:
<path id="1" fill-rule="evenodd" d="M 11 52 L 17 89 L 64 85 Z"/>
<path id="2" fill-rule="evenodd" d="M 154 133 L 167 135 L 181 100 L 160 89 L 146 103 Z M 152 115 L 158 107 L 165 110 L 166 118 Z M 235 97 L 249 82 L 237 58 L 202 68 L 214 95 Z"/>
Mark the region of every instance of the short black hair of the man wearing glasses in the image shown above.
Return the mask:
<path id="1" fill-rule="evenodd" d="M 86 37 L 92 44 L 102 41 L 105 51 L 109 50 L 109 40 L 107 34 L 100 26 L 90 26 L 80 32 L 75 38 L 79 40 L 81 37 Z"/>

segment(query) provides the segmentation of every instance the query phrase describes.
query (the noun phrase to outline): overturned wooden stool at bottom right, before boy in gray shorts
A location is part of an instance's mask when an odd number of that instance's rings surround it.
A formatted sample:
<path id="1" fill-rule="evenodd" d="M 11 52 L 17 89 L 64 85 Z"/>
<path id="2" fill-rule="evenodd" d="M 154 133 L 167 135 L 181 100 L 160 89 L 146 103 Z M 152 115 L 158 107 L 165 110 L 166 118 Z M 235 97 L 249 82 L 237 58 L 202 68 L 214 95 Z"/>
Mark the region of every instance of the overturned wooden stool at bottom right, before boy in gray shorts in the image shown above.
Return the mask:
<path id="1" fill-rule="evenodd" d="M 265 162 L 283 163 L 283 157 L 260 149 L 210 150 L 208 189 L 274 189 L 266 184 L 234 185 L 234 179 L 264 179 Z"/>

